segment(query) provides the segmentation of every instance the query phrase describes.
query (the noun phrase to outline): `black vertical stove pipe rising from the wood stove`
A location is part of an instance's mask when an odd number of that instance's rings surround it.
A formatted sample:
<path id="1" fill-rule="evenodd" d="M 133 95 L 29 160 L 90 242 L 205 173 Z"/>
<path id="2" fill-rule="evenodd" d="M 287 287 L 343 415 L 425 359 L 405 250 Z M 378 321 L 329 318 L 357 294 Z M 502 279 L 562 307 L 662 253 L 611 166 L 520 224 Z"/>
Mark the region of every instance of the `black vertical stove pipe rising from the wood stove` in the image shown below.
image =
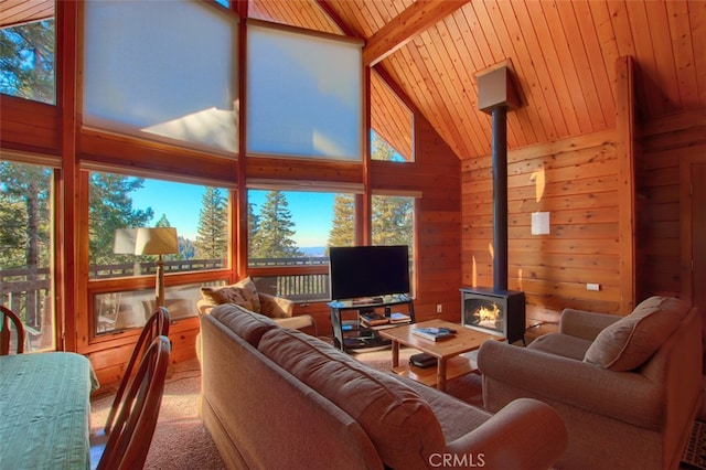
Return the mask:
<path id="1" fill-rule="evenodd" d="M 507 107 L 492 109 L 493 288 L 507 290 Z"/>

